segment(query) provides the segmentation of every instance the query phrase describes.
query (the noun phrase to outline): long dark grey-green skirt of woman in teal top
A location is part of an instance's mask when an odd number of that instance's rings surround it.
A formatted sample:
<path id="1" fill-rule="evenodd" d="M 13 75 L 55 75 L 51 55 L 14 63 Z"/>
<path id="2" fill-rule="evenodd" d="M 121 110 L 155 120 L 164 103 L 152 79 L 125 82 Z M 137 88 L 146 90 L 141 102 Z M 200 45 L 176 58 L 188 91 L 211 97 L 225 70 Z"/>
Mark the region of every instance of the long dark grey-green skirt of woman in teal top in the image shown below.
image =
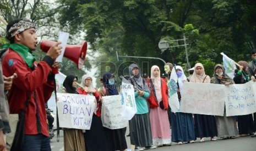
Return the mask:
<path id="1" fill-rule="evenodd" d="M 153 144 L 149 113 L 135 114 L 130 120 L 130 144 L 139 147 Z"/>

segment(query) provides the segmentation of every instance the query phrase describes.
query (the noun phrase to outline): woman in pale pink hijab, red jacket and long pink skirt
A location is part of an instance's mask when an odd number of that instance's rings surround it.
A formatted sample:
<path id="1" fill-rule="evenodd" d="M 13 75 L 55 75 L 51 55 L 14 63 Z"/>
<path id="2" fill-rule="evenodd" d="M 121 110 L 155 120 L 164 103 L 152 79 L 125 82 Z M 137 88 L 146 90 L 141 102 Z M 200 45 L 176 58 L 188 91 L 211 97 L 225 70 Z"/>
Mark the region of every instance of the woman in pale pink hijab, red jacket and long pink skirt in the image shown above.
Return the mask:
<path id="1" fill-rule="evenodd" d="M 151 78 L 148 82 L 153 145 L 157 147 L 171 146 L 171 131 L 167 114 L 168 87 L 165 80 L 160 78 L 158 66 L 151 67 Z"/>

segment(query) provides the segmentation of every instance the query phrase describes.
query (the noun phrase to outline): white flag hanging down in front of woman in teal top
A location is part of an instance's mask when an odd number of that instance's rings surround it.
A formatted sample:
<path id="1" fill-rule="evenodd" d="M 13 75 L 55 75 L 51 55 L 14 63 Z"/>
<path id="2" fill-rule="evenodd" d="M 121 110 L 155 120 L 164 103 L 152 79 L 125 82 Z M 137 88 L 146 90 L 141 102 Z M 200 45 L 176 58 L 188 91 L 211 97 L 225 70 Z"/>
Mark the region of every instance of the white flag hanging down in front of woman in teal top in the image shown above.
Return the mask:
<path id="1" fill-rule="evenodd" d="M 122 79 L 122 112 L 124 119 L 130 120 L 137 112 L 133 85 L 126 78 Z"/>

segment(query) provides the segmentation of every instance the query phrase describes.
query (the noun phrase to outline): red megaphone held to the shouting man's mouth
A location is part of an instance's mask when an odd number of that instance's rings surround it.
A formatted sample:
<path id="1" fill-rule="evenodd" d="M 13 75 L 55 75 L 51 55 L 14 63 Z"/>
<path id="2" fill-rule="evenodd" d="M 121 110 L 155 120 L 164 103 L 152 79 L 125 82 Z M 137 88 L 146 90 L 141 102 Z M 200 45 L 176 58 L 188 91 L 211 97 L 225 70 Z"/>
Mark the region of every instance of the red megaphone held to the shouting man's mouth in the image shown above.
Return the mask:
<path id="1" fill-rule="evenodd" d="M 40 48 L 47 53 L 47 51 L 52 47 L 52 45 L 56 44 L 52 40 L 42 40 L 40 43 Z M 87 51 L 87 42 L 84 41 L 79 45 L 67 45 L 64 57 L 67 57 L 69 60 L 72 60 L 77 65 L 77 68 L 81 69 L 84 65 L 85 56 Z"/>

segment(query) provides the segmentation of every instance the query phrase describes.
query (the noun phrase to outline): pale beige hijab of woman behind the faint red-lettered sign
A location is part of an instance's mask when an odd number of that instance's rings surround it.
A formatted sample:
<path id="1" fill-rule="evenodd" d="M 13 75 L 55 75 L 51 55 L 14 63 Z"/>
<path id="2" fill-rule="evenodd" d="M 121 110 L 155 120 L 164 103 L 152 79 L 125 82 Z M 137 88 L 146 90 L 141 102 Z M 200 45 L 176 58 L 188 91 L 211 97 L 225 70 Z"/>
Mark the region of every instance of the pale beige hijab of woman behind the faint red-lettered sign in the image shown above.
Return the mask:
<path id="1" fill-rule="evenodd" d="M 203 72 L 199 75 L 197 74 L 197 67 L 201 67 L 203 69 Z M 210 83 L 210 77 L 207 78 L 204 72 L 204 66 L 202 65 L 202 63 L 197 63 L 195 64 L 195 70 L 194 70 L 194 73 L 192 75 L 192 77 L 190 78 L 189 82 L 194 82 L 194 83 Z"/>

